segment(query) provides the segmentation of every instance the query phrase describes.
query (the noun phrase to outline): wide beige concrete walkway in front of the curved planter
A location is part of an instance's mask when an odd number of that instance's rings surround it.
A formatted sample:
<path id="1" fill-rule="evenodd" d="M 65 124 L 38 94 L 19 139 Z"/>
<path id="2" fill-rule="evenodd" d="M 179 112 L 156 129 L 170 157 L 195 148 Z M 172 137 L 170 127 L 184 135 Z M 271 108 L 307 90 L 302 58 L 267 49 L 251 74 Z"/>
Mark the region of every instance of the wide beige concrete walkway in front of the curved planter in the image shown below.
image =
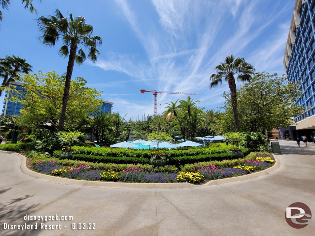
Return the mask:
<path id="1" fill-rule="evenodd" d="M 18 156 L 0 153 L 0 235 L 315 235 L 315 145 L 280 141 L 281 166 L 264 177 L 181 189 L 97 188 L 43 181 L 20 170 Z M 285 221 L 286 207 L 303 202 L 313 221 L 303 229 Z M 62 229 L 11 230 L 30 216 Z M 59 218 L 60 219 L 60 218 Z M 96 229 L 71 229 L 72 222 Z M 65 227 L 66 226 L 66 227 Z"/>

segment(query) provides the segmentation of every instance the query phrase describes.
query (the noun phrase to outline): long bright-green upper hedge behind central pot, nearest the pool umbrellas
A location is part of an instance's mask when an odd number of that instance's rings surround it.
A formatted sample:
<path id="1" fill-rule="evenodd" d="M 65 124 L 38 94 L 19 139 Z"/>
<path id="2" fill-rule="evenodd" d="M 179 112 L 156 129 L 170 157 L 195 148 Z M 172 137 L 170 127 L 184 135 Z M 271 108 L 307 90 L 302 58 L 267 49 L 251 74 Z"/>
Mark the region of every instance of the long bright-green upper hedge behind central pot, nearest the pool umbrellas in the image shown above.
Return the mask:
<path id="1" fill-rule="evenodd" d="M 226 145 L 225 143 L 220 143 L 219 146 L 205 147 L 205 148 L 190 148 L 190 149 L 160 149 L 166 157 L 176 157 L 176 156 L 197 156 L 197 155 L 208 155 L 216 153 L 227 153 L 232 149 L 232 145 Z M 94 155 L 94 156 L 117 156 L 117 157 L 137 157 L 137 158 L 148 158 L 155 156 L 154 152 L 157 149 L 123 149 L 123 148 L 96 148 L 96 147 L 79 147 L 74 146 L 73 150 L 77 154 Z M 153 152 L 153 153 L 152 153 Z"/>

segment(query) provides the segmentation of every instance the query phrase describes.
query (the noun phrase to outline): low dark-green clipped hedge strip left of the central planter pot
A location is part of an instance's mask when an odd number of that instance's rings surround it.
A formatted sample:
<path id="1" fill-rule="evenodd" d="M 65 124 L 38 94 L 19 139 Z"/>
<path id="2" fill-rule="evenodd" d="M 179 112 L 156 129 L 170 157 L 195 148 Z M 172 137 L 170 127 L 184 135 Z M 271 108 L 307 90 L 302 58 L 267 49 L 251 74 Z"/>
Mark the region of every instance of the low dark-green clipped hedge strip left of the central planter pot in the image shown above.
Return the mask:
<path id="1" fill-rule="evenodd" d="M 113 157 L 113 156 L 93 156 L 93 155 L 76 154 L 76 155 L 73 155 L 70 159 L 97 162 L 97 163 L 149 164 L 149 159 L 136 158 L 136 157 Z"/>

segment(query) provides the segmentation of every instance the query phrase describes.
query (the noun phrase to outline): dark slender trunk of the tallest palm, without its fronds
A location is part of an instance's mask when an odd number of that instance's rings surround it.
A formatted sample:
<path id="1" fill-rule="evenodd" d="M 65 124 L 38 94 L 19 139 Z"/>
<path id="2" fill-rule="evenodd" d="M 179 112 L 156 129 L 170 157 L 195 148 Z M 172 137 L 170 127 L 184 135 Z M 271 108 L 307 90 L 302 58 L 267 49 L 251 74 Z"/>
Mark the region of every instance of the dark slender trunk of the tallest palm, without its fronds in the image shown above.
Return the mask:
<path id="1" fill-rule="evenodd" d="M 72 42 L 70 45 L 70 54 L 69 54 L 69 61 L 68 61 L 68 66 L 67 66 L 66 83 L 65 83 L 65 89 L 64 89 L 64 93 L 62 97 L 62 108 L 61 108 L 58 131 L 63 130 L 63 124 L 65 122 L 66 108 L 69 101 L 70 82 L 71 82 L 71 76 L 72 76 L 74 59 L 76 57 L 76 53 L 77 53 L 77 45 Z"/>

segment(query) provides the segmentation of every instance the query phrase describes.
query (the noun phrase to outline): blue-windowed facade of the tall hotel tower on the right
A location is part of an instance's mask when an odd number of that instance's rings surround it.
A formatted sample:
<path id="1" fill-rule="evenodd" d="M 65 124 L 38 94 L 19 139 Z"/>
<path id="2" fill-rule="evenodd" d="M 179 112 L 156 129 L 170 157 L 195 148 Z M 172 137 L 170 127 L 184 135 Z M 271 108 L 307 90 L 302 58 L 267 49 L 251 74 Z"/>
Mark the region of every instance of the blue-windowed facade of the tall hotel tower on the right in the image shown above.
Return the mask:
<path id="1" fill-rule="evenodd" d="M 297 123 L 315 115 L 315 0 L 297 0 L 291 21 L 284 69 L 288 80 L 297 83 L 302 96 L 295 105 L 301 105 L 306 113 L 294 118 Z"/>

